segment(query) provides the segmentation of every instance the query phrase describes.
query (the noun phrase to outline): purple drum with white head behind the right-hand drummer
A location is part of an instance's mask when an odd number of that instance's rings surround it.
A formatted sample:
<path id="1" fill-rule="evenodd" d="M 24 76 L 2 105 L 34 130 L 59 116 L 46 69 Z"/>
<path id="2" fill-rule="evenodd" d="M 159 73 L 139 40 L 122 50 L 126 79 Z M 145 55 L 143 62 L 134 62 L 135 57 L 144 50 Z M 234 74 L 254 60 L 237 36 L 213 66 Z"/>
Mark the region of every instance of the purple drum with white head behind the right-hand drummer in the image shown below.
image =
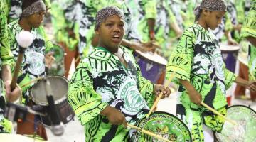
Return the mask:
<path id="1" fill-rule="evenodd" d="M 220 50 L 225 62 L 226 68 L 235 73 L 235 63 L 238 56 L 238 45 L 228 45 L 227 43 L 220 43 Z"/>

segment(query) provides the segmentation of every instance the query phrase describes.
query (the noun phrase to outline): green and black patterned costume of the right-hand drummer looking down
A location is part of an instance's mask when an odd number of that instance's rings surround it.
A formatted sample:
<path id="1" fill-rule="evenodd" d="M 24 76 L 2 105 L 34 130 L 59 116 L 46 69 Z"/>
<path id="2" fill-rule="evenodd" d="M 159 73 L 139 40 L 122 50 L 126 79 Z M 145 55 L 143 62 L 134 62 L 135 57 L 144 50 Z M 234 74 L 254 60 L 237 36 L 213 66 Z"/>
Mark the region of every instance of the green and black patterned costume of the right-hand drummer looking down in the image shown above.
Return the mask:
<path id="1" fill-rule="evenodd" d="M 194 24 L 182 35 L 167 65 L 166 77 L 176 72 L 177 79 L 187 80 L 202 95 L 203 102 L 226 114 L 225 90 L 235 80 L 235 75 L 225 69 L 215 35 Z M 223 119 L 204 107 L 193 104 L 181 84 L 178 87 L 177 116 L 190 129 L 193 141 L 204 141 L 202 124 L 213 131 L 221 131 Z"/>

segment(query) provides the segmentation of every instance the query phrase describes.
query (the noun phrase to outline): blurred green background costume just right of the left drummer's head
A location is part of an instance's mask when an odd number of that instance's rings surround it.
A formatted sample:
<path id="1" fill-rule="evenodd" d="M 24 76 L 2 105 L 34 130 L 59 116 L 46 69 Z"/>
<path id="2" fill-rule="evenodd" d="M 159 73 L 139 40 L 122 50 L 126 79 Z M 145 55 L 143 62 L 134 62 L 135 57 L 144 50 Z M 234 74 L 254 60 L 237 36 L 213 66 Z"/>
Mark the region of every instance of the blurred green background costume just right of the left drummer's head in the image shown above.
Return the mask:
<path id="1" fill-rule="evenodd" d="M 79 8 L 76 1 L 55 0 L 52 3 L 51 21 L 53 23 L 53 33 L 57 43 L 65 43 L 69 50 L 75 50 L 79 40 L 79 23 L 76 17 Z M 75 37 L 68 35 L 68 29 L 75 33 Z"/>

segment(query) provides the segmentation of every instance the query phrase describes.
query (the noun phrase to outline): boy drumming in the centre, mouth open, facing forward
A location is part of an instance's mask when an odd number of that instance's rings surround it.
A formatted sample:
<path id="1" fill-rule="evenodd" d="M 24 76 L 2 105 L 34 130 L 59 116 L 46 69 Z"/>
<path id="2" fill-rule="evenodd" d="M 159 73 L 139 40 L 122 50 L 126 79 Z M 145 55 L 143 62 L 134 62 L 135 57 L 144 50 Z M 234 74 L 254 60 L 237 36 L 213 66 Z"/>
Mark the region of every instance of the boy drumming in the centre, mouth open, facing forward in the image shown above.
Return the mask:
<path id="1" fill-rule="evenodd" d="M 169 97 L 170 89 L 144 79 L 132 53 L 119 46 L 124 16 L 117 7 L 101 9 L 95 19 L 99 45 L 75 70 L 68 102 L 85 126 L 85 141 L 128 141 L 127 121 L 135 123 L 155 94 L 164 91 Z"/>

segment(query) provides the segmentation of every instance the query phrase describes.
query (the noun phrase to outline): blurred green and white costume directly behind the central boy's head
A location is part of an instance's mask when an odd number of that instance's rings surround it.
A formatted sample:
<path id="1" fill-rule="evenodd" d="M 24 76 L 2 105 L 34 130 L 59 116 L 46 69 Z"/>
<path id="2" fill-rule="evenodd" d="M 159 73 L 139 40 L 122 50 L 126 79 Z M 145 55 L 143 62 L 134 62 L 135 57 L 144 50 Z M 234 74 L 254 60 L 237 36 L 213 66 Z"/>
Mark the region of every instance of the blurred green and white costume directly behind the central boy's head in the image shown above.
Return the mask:
<path id="1" fill-rule="evenodd" d="M 129 24 L 130 13 L 127 5 L 122 0 L 88 0 L 80 2 L 81 17 L 79 22 L 79 53 L 85 58 L 92 52 L 92 39 L 95 37 L 95 15 L 105 6 L 117 6 L 124 13 L 125 22 Z M 128 33 L 128 29 L 126 29 Z"/>

